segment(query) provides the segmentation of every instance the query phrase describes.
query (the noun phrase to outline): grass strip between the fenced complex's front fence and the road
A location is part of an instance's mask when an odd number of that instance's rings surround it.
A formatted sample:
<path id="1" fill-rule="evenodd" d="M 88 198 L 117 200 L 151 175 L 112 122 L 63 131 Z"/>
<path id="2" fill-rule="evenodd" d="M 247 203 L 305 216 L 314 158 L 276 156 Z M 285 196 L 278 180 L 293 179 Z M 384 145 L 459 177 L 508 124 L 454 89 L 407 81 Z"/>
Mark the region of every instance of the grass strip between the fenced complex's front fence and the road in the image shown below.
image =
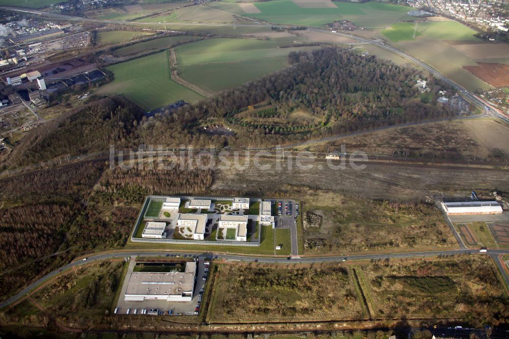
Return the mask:
<path id="1" fill-rule="evenodd" d="M 213 251 L 230 252 L 253 255 L 274 255 L 274 235 L 272 226 L 261 227 L 260 246 L 228 246 L 228 245 L 186 245 L 186 244 L 164 244 L 164 243 L 143 243 L 131 242 L 128 240 L 125 249 L 160 249 L 160 250 L 187 250 L 187 251 Z M 284 259 L 281 259 L 284 260 Z"/>

